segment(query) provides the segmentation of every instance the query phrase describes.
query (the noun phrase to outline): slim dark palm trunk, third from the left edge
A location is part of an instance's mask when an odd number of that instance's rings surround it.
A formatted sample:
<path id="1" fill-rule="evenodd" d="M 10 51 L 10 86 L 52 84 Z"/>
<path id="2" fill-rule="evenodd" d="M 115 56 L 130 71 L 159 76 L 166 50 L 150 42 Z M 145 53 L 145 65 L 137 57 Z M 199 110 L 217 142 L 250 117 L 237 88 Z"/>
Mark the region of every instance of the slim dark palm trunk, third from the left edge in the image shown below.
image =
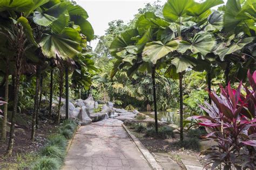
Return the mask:
<path id="1" fill-rule="evenodd" d="M 36 124 L 38 119 L 38 95 L 39 95 L 39 81 L 40 81 L 40 66 L 36 67 L 36 91 L 35 91 L 35 98 L 34 98 L 34 109 L 33 109 L 33 116 L 32 116 L 32 131 L 31 131 L 31 140 L 35 140 L 35 133 L 36 133 Z"/>

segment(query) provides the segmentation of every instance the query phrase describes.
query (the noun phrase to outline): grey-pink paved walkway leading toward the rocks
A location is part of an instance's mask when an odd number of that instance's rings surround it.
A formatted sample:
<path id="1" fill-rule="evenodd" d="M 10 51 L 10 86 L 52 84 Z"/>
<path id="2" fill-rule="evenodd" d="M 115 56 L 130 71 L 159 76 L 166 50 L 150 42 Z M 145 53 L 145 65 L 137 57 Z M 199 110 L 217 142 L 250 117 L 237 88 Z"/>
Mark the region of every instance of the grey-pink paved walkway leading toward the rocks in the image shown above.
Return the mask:
<path id="1" fill-rule="evenodd" d="M 66 155 L 63 169 L 151 169 L 117 119 L 82 126 Z"/>

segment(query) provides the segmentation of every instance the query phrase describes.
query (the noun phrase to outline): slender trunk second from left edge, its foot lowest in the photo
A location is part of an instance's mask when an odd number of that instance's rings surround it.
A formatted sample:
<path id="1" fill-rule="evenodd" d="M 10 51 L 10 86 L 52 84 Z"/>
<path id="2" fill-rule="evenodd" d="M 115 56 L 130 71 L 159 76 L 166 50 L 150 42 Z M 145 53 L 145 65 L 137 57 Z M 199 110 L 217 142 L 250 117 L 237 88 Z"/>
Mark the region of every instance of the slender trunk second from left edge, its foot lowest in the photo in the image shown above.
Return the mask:
<path id="1" fill-rule="evenodd" d="M 11 129 L 10 129 L 10 138 L 9 144 L 6 151 L 6 154 L 11 155 L 12 148 L 14 147 L 14 130 L 15 130 L 15 117 L 17 113 L 17 106 L 18 106 L 18 93 L 19 93 L 19 80 L 21 78 L 20 74 L 16 74 L 15 82 L 14 82 L 14 109 L 12 110 L 11 115 Z"/>

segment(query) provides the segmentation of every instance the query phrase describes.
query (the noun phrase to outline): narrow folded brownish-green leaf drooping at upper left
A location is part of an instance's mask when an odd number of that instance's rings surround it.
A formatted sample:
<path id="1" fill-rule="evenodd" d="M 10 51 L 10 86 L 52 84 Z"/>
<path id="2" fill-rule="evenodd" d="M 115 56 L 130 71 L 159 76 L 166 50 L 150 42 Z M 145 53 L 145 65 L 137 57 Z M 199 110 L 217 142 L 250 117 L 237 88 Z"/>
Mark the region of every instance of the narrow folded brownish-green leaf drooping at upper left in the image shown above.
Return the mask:
<path id="1" fill-rule="evenodd" d="M 26 34 L 26 37 L 28 37 L 29 41 L 32 44 L 34 44 L 35 46 L 38 46 L 37 42 L 35 41 L 35 39 L 33 37 L 32 28 L 29 24 L 28 19 L 26 19 L 25 17 L 19 17 L 17 20 L 17 24 L 21 24 L 23 26 L 23 30 Z"/>

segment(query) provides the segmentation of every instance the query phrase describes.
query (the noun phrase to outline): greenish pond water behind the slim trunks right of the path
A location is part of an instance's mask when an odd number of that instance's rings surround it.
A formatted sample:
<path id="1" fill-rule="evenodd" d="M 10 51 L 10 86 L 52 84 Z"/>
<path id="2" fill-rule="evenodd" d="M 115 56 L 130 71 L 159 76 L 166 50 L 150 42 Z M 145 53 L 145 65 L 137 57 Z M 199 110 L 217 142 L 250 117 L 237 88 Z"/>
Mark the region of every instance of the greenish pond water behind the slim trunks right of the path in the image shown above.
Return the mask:
<path id="1" fill-rule="evenodd" d="M 140 111 L 141 113 L 148 115 L 154 118 L 154 111 Z M 157 119 L 161 122 L 166 122 L 170 124 L 179 125 L 180 117 L 179 117 L 178 109 L 168 109 L 168 111 L 158 111 Z"/>

